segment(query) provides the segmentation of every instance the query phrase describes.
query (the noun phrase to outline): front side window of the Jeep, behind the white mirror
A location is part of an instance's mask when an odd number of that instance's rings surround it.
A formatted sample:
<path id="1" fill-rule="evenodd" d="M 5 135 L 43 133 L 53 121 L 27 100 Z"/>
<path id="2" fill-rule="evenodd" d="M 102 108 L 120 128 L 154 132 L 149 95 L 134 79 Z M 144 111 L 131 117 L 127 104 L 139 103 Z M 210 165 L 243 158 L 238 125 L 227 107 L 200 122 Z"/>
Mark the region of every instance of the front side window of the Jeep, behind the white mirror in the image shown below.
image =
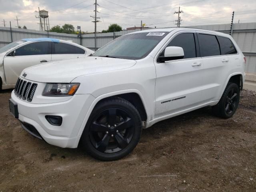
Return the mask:
<path id="1" fill-rule="evenodd" d="M 169 46 L 182 47 L 184 50 L 184 59 L 196 58 L 196 44 L 193 33 L 182 33 L 174 37 Z"/>

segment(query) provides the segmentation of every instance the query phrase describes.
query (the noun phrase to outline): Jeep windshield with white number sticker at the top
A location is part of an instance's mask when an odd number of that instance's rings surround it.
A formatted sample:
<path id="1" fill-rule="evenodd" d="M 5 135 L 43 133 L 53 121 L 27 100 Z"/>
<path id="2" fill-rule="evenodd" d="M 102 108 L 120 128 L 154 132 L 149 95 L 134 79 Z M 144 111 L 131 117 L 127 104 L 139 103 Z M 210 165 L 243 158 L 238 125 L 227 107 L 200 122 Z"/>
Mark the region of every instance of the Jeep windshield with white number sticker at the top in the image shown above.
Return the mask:
<path id="1" fill-rule="evenodd" d="M 122 59 L 142 59 L 146 57 L 168 32 L 142 32 L 127 34 L 112 40 L 98 49 L 92 56 Z"/>

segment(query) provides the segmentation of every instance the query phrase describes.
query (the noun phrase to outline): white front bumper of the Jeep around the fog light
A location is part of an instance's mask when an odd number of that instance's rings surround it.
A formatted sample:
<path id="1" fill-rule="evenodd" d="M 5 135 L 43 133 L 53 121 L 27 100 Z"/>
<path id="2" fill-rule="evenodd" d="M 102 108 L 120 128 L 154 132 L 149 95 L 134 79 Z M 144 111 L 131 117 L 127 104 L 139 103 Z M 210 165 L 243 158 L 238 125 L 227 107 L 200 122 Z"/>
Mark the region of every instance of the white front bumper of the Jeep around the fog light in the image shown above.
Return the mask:
<path id="1" fill-rule="evenodd" d="M 12 91 L 12 100 L 18 104 L 18 120 L 34 126 L 47 143 L 62 148 L 78 146 L 78 132 L 94 99 L 90 94 L 75 94 L 64 102 L 33 104 L 20 100 Z M 61 116 L 61 126 L 51 125 L 46 115 Z"/>

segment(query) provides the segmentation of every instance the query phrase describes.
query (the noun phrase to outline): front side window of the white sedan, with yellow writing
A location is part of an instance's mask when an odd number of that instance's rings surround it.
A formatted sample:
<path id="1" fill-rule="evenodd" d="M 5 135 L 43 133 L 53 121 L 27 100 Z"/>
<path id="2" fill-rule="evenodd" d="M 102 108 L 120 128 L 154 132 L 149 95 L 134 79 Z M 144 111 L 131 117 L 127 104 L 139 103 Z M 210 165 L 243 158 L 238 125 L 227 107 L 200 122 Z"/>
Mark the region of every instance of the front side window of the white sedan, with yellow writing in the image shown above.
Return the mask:
<path id="1" fill-rule="evenodd" d="M 15 56 L 51 54 L 49 44 L 50 42 L 48 41 L 40 41 L 26 44 L 16 49 Z"/>

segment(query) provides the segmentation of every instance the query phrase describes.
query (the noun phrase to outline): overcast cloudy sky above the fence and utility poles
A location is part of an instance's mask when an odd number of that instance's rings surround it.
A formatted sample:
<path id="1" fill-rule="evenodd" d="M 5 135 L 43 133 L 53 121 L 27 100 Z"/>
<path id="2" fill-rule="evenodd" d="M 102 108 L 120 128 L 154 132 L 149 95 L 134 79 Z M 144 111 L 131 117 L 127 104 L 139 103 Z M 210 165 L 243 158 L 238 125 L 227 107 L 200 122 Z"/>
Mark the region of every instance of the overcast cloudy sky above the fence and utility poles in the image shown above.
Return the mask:
<path id="1" fill-rule="evenodd" d="M 95 0 L 0 0 L 0 21 L 4 26 L 19 25 L 39 30 L 39 19 L 35 11 L 49 12 L 50 27 L 65 23 L 81 26 L 83 31 L 94 31 Z M 256 22 L 256 0 L 97 0 L 99 5 L 97 31 L 107 29 L 111 23 L 118 23 L 123 29 L 140 26 L 140 21 L 148 27 L 173 27 L 180 10 L 181 26 L 205 24 L 229 24 L 232 11 L 234 22 Z"/>

